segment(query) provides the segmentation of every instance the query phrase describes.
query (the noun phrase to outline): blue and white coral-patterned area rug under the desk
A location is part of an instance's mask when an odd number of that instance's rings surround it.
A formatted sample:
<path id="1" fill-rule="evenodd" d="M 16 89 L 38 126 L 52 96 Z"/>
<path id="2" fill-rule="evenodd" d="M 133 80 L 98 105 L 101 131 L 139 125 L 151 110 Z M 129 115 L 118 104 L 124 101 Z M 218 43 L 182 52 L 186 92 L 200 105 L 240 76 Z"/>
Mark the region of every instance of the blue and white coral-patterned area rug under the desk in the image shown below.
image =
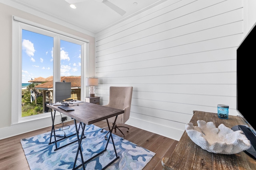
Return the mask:
<path id="1" fill-rule="evenodd" d="M 106 131 L 100 131 L 101 129 L 95 125 L 86 125 L 84 131 L 86 138 L 82 140 L 82 153 L 84 160 L 88 160 L 98 152 L 105 149 L 107 140 L 105 140 L 104 135 L 106 134 Z M 56 135 L 63 136 L 64 133 L 67 136 L 75 133 L 74 125 L 71 125 L 69 128 L 64 127 L 56 131 Z M 126 139 L 122 140 L 122 138 L 117 135 L 112 134 L 112 136 L 116 152 L 120 158 L 108 166 L 106 170 L 142 170 L 155 155 L 154 152 L 144 149 L 130 141 L 127 141 Z M 73 135 L 59 141 L 58 147 L 75 141 L 76 139 L 76 135 Z M 49 141 L 50 132 L 20 140 L 30 170 L 72 170 L 78 142 L 54 151 L 55 143 L 49 145 Z M 54 141 L 53 136 L 52 141 Z M 100 170 L 115 158 L 116 154 L 114 152 L 112 140 L 110 139 L 107 150 L 85 164 L 86 170 Z M 76 166 L 80 164 L 81 157 L 79 152 Z M 82 166 L 78 168 L 78 170 L 82 169 Z"/>

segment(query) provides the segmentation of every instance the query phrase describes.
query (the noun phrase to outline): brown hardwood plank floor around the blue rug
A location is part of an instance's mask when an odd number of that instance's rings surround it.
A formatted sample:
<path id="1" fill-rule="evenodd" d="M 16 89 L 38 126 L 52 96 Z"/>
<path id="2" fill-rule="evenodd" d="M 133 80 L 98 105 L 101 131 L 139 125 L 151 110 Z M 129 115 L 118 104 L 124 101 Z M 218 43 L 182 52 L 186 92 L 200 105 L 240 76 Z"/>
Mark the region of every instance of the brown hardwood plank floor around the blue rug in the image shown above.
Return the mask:
<path id="1" fill-rule="evenodd" d="M 74 122 L 69 121 L 65 124 L 73 125 Z M 94 125 L 103 128 L 107 126 L 107 123 L 105 121 L 100 121 Z M 161 170 L 162 157 L 171 156 L 178 141 L 129 125 L 124 126 L 130 128 L 129 132 L 127 132 L 125 129 L 123 130 L 126 140 L 156 153 L 152 160 L 150 160 L 150 162 L 145 166 L 144 170 Z M 22 146 L 20 144 L 20 139 L 32 137 L 34 135 L 48 131 L 51 131 L 51 127 L 46 127 L 36 131 L 0 140 L 0 170 L 30 170 Z M 122 137 L 118 130 L 114 134 Z"/>

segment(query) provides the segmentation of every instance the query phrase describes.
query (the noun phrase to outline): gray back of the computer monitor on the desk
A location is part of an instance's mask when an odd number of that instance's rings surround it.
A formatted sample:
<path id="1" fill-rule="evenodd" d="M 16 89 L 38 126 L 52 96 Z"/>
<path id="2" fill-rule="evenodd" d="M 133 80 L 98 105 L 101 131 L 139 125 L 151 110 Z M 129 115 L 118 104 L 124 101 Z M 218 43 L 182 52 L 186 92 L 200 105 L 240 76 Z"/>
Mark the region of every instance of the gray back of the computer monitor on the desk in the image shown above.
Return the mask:
<path id="1" fill-rule="evenodd" d="M 71 98 L 71 82 L 55 82 L 55 102 Z"/>

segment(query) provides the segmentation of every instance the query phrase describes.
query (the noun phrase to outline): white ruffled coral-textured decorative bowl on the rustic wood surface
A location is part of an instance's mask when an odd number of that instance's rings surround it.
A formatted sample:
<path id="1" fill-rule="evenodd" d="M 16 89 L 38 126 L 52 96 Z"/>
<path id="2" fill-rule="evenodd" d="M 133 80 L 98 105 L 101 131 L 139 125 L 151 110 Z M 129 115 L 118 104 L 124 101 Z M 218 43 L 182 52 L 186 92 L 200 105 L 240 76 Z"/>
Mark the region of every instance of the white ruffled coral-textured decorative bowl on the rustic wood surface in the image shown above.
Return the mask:
<path id="1" fill-rule="evenodd" d="M 198 120 L 197 124 L 193 126 L 193 123 L 187 123 L 186 132 L 196 145 L 208 152 L 236 154 L 251 147 L 243 131 L 233 131 L 223 124 L 216 128 L 213 122 L 203 120 Z"/>

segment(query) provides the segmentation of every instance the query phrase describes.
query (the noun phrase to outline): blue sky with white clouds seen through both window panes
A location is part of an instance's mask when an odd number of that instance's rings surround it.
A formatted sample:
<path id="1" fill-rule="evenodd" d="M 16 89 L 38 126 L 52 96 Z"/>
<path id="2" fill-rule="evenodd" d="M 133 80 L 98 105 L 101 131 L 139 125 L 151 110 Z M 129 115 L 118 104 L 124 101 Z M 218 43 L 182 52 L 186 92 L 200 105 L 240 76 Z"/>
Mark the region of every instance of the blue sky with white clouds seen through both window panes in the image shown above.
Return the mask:
<path id="1" fill-rule="evenodd" d="M 22 83 L 53 75 L 53 37 L 22 30 Z M 61 76 L 81 75 L 81 45 L 61 40 Z"/>

